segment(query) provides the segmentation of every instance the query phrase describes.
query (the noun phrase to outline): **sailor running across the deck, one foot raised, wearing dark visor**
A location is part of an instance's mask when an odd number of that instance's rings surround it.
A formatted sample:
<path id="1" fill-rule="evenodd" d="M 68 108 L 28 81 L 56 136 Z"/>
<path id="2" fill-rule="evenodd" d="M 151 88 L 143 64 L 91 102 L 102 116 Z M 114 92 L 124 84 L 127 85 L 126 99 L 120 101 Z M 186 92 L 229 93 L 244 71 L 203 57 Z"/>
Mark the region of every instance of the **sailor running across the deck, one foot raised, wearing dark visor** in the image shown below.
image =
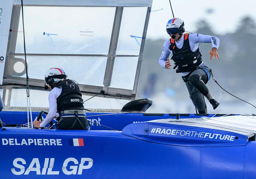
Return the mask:
<path id="1" fill-rule="evenodd" d="M 202 34 L 183 34 L 185 32 L 184 22 L 179 18 L 170 19 L 166 24 L 166 31 L 171 36 L 164 42 L 163 52 L 159 58 L 159 64 L 163 68 L 170 69 L 169 55 L 172 55 L 176 73 L 182 74 L 190 99 L 198 110 L 199 114 L 207 114 L 207 107 L 204 97 L 212 104 L 213 109 L 219 106 L 209 92 L 206 83 L 210 80 L 210 69 L 203 62 L 198 48 L 200 42 L 212 43 L 209 52 L 210 60 L 219 58 L 217 49 L 220 41 L 217 37 Z"/>

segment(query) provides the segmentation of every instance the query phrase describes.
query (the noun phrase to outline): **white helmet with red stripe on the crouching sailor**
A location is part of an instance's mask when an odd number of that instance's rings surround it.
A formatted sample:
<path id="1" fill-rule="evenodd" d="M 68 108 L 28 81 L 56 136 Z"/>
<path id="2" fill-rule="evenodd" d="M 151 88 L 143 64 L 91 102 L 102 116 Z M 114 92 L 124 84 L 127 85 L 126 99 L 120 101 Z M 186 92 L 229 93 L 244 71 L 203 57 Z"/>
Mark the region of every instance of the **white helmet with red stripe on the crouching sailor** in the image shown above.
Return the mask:
<path id="1" fill-rule="evenodd" d="M 66 79 L 67 77 L 67 74 L 61 68 L 50 68 L 46 71 L 44 75 L 45 82 L 48 83 L 50 86 L 53 83 L 57 83 L 59 81 Z"/>

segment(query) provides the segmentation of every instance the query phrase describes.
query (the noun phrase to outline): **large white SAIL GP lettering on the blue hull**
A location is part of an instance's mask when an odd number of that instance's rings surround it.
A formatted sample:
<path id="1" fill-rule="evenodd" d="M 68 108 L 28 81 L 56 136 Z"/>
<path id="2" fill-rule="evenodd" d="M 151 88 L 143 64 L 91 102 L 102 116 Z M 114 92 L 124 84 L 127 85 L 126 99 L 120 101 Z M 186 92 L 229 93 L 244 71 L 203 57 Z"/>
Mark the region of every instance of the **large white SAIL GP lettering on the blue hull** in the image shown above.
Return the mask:
<path id="1" fill-rule="evenodd" d="M 11 171 L 14 175 L 59 175 L 60 171 L 53 171 L 55 158 L 44 158 L 44 163 L 39 162 L 39 158 L 33 158 L 27 167 L 27 162 L 23 158 L 16 158 L 13 160 L 13 167 Z M 65 175 L 82 175 L 84 169 L 89 169 L 93 165 L 91 158 L 81 158 L 81 162 L 75 158 L 67 158 L 62 165 L 62 172 Z M 43 164 L 43 165 L 42 165 Z M 71 165 L 70 165 L 71 164 Z M 87 165 L 86 165 L 87 164 Z M 60 166 L 58 166 L 60 168 Z"/>

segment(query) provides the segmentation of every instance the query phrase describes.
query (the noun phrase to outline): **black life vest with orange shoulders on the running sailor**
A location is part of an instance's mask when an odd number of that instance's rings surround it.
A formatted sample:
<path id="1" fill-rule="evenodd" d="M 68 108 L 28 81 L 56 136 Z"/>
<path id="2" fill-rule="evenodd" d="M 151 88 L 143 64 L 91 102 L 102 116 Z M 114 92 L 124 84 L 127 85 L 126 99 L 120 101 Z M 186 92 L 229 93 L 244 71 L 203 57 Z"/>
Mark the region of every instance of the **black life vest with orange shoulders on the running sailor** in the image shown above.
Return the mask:
<path id="1" fill-rule="evenodd" d="M 169 49 L 172 50 L 172 60 L 174 68 L 177 66 L 176 73 L 194 71 L 202 63 L 201 53 L 199 48 L 192 52 L 189 46 L 188 33 L 184 34 L 184 43 L 181 49 L 177 48 L 173 39 L 170 39 Z"/>

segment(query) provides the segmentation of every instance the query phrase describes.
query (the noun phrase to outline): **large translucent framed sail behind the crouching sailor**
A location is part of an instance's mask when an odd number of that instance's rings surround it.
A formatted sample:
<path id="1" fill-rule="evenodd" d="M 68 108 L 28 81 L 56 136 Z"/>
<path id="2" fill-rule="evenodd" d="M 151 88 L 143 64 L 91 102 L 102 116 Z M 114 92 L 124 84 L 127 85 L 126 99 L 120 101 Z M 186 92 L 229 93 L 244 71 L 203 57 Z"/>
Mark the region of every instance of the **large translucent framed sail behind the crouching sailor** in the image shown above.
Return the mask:
<path id="1" fill-rule="evenodd" d="M 44 90 L 44 73 L 59 67 L 84 95 L 133 100 L 152 0 L 23 0 L 30 89 Z M 11 13 L 2 88 L 26 88 L 20 1 Z M 10 88 L 10 86 L 9 86 Z"/>

